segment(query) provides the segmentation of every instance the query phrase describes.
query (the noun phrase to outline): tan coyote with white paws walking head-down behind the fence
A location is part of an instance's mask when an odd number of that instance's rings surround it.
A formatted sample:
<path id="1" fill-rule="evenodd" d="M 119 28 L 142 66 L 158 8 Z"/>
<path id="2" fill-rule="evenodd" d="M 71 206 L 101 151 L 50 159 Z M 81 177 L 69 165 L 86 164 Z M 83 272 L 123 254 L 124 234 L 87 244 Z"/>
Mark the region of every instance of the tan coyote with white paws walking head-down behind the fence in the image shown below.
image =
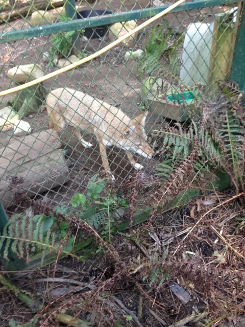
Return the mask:
<path id="1" fill-rule="evenodd" d="M 124 149 L 135 169 L 142 169 L 132 153 L 152 158 L 153 149 L 148 145 L 144 131 L 146 114 L 130 119 L 120 109 L 89 95 L 70 88 L 58 88 L 46 98 L 50 128 L 59 133 L 66 123 L 76 128 L 75 135 L 85 148 L 92 147 L 80 133 L 80 129 L 95 134 L 100 145 L 103 167 L 110 172 L 106 147 L 116 146 Z"/>

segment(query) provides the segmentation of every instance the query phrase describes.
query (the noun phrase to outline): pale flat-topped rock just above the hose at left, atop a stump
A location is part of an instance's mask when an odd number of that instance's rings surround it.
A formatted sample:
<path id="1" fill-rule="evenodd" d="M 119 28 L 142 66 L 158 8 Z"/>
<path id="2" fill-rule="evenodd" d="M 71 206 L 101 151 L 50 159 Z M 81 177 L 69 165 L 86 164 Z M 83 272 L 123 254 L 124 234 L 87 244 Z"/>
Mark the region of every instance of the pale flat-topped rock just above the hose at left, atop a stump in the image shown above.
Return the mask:
<path id="1" fill-rule="evenodd" d="M 20 65 L 9 69 L 8 77 L 16 83 L 26 83 L 44 76 L 41 66 L 36 64 Z"/>

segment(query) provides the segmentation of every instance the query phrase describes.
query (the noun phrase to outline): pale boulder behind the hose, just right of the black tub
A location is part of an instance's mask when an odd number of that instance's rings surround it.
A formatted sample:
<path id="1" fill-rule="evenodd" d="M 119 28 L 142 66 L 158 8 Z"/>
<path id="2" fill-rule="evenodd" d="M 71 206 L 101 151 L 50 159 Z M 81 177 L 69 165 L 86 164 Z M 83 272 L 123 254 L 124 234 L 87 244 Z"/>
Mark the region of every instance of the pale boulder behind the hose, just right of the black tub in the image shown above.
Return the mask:
<path id="1" fill-rule="evenodd" d="M 119 37 L 127 34 L 129 31 L 132 31 L 137 26 L 137 22 L 135 20 L 129 20 L 126 22 L 116 22 L 109 29 L 109 39 L 111 42 L 115 41 Z M 132 36 L 128 37 L 126 40 L 121 42 L 119 45 L 123 44 L 127 46 L 127 48 L 131 48 L 134 46 L 138 33 L 134 33 Z"/>

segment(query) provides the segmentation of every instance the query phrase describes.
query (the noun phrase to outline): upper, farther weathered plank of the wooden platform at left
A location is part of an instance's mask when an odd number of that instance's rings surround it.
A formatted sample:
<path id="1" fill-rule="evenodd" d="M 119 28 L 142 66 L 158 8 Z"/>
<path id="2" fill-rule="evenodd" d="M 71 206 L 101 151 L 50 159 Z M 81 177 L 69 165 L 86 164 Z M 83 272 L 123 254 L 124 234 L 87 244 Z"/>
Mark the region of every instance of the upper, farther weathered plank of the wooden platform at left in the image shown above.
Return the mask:
<path id="1" fill-rule="evenodd" d="M 59 135 L 53 129 L 11 138 L 8 144 L 0 149 L 0 178 L 26 162 L 38 160 L 39 157 L 60 147 Z"/>

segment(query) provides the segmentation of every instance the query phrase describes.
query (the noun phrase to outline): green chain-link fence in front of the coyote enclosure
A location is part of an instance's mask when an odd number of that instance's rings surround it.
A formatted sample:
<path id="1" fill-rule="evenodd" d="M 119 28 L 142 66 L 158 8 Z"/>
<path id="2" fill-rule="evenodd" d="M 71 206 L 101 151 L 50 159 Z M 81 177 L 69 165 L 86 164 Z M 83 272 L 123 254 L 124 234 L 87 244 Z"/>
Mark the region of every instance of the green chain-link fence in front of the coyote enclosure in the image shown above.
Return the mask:
<path id="1" fill-rule="evenodd" d="M 101 50 L 170 4 L 1 0 L 0 91 Z M 105 193 L 111 179 L 119 190 L 135 170 L 158 178 L 161 133 L 185 124 L 203 92 L 211 97 L 229 80 L 241 29 L 241 3 L 174 11 L 102 56 L 0 98 L 0 194 L 9 212 L 20 209 L 19 193 L 68 206 L 94 175 L 108 180 Z"/>

